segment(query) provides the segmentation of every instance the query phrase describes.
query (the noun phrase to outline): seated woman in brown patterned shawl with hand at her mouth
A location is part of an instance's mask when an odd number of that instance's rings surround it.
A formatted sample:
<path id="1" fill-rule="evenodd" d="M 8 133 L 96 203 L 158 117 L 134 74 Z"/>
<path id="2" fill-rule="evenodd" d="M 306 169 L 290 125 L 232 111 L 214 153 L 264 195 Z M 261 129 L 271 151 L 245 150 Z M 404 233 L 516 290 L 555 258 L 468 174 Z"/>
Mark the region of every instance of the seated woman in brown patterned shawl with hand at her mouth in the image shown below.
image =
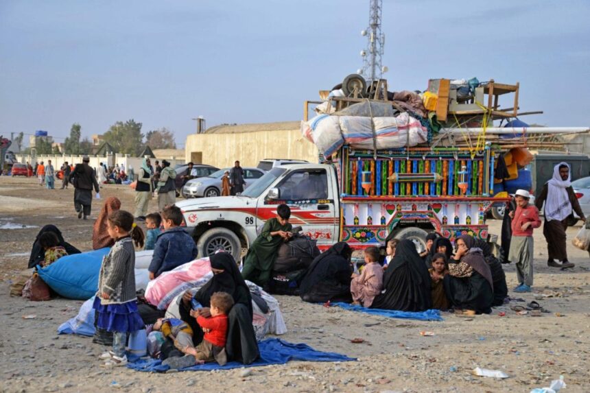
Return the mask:
<path id="1" fill-rule="evenodd" d="M 456 245 L 457 252 L 443 281 L 451 306 L 466 313 L 491 313 L 493 280 L 482 250 L 475 247 L 475 239 L 469 235 L 458 237 Z"/>

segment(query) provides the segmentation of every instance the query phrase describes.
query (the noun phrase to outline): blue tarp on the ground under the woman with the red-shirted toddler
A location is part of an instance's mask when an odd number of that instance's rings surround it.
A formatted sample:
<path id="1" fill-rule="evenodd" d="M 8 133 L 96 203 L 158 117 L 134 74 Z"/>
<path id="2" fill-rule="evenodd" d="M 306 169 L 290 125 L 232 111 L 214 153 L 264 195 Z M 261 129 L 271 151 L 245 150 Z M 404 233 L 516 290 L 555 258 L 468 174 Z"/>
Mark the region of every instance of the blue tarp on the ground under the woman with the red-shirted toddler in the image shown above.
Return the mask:
<path id="1" fill-rule="evenodd" d="M 314 350 L 307 344 L 291 344 L 278 338 L 269 338 L 258 343 L 258 349 L 260 351 L 260 357 L 257 361 L 252 364 L 241 364 L 238 361 L 231 361 L 225 366 L 219 364 L 207 363 L 192 366 L 189 368 L 183 368 L 181 371 L 210 371 L 210 370 L 230 370 L 231 368 L 241 367 L 257 367 L 257 366 L 270 366 L 271 364 L 285 364 L 290 360 L 298 361 L 353 361 L 356 360 L 353 357 L 340 355 L 340 353 L 321 352 Z M 149 371 L 149 372 L 165 372 L 168 370 L 168 366 L 162 366 L 161 360 L 156 359 L 139 359 L 134 363 L 127 365 L 128 368 L 132 368 L 137 371 Z"/>

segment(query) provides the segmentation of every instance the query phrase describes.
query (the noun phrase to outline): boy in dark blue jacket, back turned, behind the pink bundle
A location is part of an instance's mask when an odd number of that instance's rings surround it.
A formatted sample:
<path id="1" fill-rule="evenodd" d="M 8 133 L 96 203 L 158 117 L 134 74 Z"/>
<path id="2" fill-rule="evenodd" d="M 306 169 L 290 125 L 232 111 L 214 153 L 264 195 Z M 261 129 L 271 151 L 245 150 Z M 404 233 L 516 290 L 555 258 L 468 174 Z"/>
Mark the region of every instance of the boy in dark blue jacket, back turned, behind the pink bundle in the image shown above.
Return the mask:
<path id="1" fill-rule="evenodd" d="M 164 233 L 156 240 L 154 256 L 147 270 L 150 280 L 163 272 L 168 272 L 187 262 L 196 259 L 198 251 L 193 238 L 180 228 L 182 212 L 178 206 L 166 206 L 162 211 Z"/>

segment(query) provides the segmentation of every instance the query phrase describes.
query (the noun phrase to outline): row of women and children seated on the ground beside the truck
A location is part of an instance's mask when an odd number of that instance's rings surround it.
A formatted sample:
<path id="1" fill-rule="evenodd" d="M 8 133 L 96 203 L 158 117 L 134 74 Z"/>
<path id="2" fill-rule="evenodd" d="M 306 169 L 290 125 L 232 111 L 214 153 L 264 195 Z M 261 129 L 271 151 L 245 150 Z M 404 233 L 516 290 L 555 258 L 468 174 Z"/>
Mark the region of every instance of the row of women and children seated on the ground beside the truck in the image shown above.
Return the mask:
<path id="1" fill-rule="evenodd" d="M 364 250 L 359 274 L 350 263 L 352 250 L 335 244 L 316 258 L 300 284 L 307 302 L 353 302 L 373 309 L 425 311 L 453 309 L 466 315 L 490 313 L 508 295 L 506 276 L 488 243 L 462 235 L 451 241 L 429 235 L 421 256 L 410 240 L 387 241 Z"/>

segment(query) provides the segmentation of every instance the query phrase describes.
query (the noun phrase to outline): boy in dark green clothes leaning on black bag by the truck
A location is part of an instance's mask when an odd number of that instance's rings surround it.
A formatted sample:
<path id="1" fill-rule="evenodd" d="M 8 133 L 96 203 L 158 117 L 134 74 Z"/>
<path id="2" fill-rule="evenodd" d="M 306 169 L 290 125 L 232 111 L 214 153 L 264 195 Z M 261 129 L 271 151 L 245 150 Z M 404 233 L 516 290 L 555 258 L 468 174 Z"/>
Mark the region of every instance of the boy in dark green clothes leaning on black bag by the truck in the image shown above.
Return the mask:
<path id="1" fill-rule="evenodd" d="M 252 281 L 261 287 L 268 282 L 279 246 L 292 237 L 293 226 L 289 224 L 289 217 L 289 206 L 276 206 L 276 218 L 268 219 L 264 223 L 261 234 L 252 242 L 246 254 L 244 269 L 241 271 L 244 280 Z"/>

